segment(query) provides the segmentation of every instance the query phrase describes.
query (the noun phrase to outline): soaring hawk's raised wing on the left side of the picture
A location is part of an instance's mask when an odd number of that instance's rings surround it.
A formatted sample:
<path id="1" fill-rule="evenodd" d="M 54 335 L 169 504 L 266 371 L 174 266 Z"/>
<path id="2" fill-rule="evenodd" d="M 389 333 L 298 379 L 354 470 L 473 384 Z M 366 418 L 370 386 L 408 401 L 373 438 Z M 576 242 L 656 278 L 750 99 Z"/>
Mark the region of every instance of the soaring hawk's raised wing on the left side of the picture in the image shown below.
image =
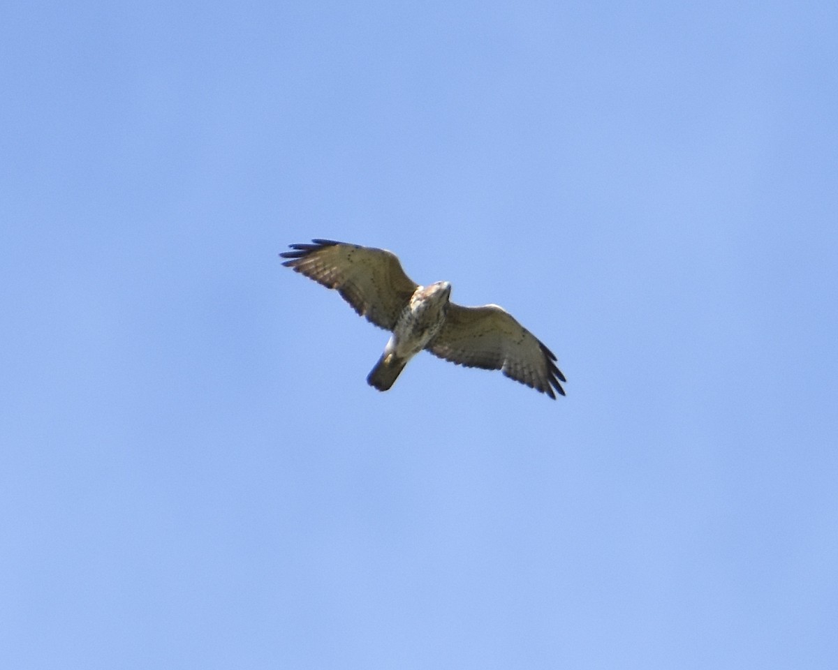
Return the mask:
<path id="1" fill-rule="evenodd" d="M 392 330 L 401 309 L 417 284 L 401 269 L 391 251 L 349 245 L 334 240 L 312 240 L 312 245 L 290 245 L 280 254 L 282 265 L 337 290 L 362 317 Z"/>

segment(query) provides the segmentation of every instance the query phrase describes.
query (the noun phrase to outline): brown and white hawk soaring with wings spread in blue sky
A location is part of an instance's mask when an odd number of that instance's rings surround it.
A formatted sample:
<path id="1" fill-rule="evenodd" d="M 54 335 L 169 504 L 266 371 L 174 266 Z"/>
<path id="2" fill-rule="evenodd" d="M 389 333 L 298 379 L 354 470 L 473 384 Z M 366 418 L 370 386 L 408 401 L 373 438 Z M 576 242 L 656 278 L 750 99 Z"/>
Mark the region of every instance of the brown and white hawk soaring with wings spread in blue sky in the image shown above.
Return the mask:
<path id="1" fill-rule="evenodd" d="M 449 300 L 447 281 L 419 286 L 391 251 L 312 242 L 289 245 L 282 265 L 334 288 L 360 316 L 393 333 L 367 377 L 370 386 L 390 389 L 407 362 L 427 349 L 458 365 L 501 370 L 552 399 L 565 394 L 555 354 L 502 307 L 461 307 Z"/>

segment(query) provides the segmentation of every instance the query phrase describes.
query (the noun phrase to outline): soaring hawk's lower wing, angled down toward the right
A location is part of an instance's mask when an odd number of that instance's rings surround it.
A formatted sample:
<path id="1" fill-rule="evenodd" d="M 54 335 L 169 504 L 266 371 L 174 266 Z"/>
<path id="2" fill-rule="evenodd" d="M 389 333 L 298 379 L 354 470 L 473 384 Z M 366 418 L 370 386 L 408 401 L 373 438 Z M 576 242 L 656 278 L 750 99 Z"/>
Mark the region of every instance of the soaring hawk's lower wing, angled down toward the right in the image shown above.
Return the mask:
<path id="1" fill-rule="evenodd" d="M 556 356 L 509 312 L 497 305 L 460 307 L 451 303 L 445 324 L 427 345 L 434 356 L 470 368 L 501 370 L 510 379 L 556 399 L 565 376 Z"/>

